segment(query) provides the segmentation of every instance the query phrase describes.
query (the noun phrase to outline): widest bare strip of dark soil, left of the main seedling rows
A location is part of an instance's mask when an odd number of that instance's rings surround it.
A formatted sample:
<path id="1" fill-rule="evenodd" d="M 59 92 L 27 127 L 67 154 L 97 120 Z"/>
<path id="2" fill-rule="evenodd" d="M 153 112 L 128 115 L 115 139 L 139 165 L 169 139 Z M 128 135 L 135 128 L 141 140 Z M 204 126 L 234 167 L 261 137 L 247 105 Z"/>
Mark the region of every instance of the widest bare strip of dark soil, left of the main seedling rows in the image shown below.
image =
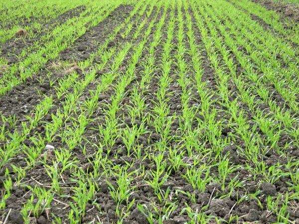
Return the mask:
<path id="1" fill-rule="evenodd" d="M 125 12 L 122 6 L 120 7 L 120 9 L 122 9 L 120 10 L 121 12 L 123 11 Z M 130 9 L 131 8 L 129 8 L 129 10 Z M 117 25 L 117 23 L 115 23 L 115 19 L 118 12 L 119 12 L 118 10 L 112 12 L 111 16 L 109 16 L 99 25 L 93 27 L 92 30 L 87 31 L 84 35 L 78 38 L 74 45 L 60 52 L 56 60 L 49 60 L 39 73 L 33 75 L 32 78 L 30 77 L 27 78 L 23 84 L 19 84 L 18 86 L 10 90 L 5 96 L 2 96 L 0 98 L 0 105 L 1 105 L 0 114 L 4 115 L 5 117 L 9 116 L 9 114 L 11 113 L 14 114 L 17 123 L 20 125 L 21 121 L 26 120 L 25 116 L 31 114 L 35 106 L 39 104 L 41 100 L 44 99 L 44 96 L 40 96 L 38 94 L 38 91 L 41 91 L 43 95 L 50 97 L 51 95 L 55 94 L 54 87 L 58 85 L 59 79 L 63 78 L 65 75 L 69 74 L 73 70 L 77 70 L 79 73 L 81 73 L 82 70 L 76 65 L 67 68 L 66 71 L 62 70 L 60 73 L 57 72 L 55 67 L 60 66 L 59 58 L 61 60 L 65 60 L 64 55 L 66 54 L 64 52 L 70 52 L 69 54 L 67 54 L 68 56 L 70 56 L 68 58 L 70 59 L 70 61 L 74 54 L 71 53 L 71 51 L 73 50 L 75 50 L 75 52 L 79 52 L 82 55 L 84 55 L 84 58 L 82 58 L 81 60 L 86 60 L 89 57 L 90 53 L 97 50 L 96 48 L 97 43 L 92 41 L 92 39 L 96 38 L 98 39 L 98 41 L 105 41 L 105 37 L 109 35 L 109 33 L 113 30 L 114 25 Z M 61 19 L 64 20 L 64 16 L 62 16 Z M 104 29 L 105 26 L 109 28 L 107 29 L 107 31 L 106 29 Z M 89 41 L 86 41 L 87 40 L 86 38 L 89 38 Z M 91 45 L 88 51 L 87 49 L 83 52 L 77 50 L 77 46 L 79 45 L 82 46 L 82 43 L 87 43 L 88 45 Z M 76 60 L 77 63 L 78 61 L 81 60 L 79 55 L 76 56 L 77 56 L 76 58 L 78 59 Z M 2 71 L 5 71 L 7 68 L 8 66 L 1 67 L 0 74 Z M 50 87 L 49 80 L 47 78 L 47 74 L 49 72 L 53 74 L 51 80 L 55 81 L 54 86 L 52 87 Z M 82 76 L 82 78 L 84 77 Z M 2 124 L 2 120 L 0 120 L 0 124 Z"/>

